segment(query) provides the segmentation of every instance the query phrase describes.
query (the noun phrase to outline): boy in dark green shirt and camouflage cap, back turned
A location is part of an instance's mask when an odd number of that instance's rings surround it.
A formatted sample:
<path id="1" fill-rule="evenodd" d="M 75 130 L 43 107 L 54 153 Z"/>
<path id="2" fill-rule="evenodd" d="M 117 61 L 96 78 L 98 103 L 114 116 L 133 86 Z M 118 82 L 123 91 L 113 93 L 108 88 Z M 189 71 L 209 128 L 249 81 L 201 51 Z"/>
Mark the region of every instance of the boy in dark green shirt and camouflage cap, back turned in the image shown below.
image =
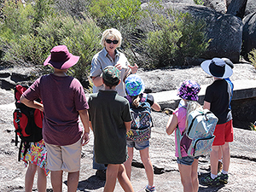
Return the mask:
<path id="1" fill-rule="evenodd" d="M 131 114 L 129 102 L 115 90 L 120 83 L 119 70 L 105 67 L 102 82 L 104 90 L 91 94 L 88 103 L 96 163 L 108 165 L 104 192 L 114 190 L 117 178 L 125 192 L 133 192 L 124 166 L 128 158 L 126 132 L 131 129 Z"/>

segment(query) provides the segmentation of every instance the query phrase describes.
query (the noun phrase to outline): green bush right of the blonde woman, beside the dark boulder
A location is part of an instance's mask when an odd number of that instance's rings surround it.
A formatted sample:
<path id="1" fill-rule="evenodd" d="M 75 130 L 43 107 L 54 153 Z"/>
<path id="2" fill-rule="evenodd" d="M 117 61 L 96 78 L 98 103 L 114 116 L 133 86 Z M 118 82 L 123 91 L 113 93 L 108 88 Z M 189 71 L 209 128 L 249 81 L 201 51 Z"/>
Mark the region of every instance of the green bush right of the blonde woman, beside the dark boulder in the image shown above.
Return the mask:
<path id="1" fill-rule="evenodd" d="M 146 36 L 137 47 L 142 56 L 138 62 L 143 67 L 185 65 L 188 58 L 198 57 L 207 50 L 206 22 L 195 20 L 188 13 L 163 9 L 159 3 L 153 2 L 142 21 Z M 148 26 L 144 26 L 145 23 Z"/>

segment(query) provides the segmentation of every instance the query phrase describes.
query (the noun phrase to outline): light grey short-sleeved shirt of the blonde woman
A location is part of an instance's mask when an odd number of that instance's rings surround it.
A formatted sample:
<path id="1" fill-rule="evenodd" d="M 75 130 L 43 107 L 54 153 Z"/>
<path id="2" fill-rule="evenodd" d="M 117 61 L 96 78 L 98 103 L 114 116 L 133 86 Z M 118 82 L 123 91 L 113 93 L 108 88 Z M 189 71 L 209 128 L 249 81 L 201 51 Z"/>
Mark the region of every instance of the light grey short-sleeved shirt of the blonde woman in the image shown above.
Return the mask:
<path id="1" fill-rule="evenodd" d="M 125 83 L 124 79 L 127 73 L 131 72 L 131 69 L 128 67 L 130 65 L 129 61 L 125 57 L 125 55 L 115 49 L 115 58 L 114 61 L 110 55 L 108 55 L 108 51 L 103 48 L 100 52 L 93 56 L 90 67 L 90 77 L 98 77 L 102 74 L 102 71 L 105 67 L 115 66 L 116 64 L 121 64 L 122 69 L 120 70 L 120 79 L 121 82 L 116 86 L 115 90 L 118 92 L 119 96 L 126 96 L 125 93 Z M 104 90 L 103 84 L 99 87 L 93 85 L 93 93 L 98 92 L 99 90 Z"/>

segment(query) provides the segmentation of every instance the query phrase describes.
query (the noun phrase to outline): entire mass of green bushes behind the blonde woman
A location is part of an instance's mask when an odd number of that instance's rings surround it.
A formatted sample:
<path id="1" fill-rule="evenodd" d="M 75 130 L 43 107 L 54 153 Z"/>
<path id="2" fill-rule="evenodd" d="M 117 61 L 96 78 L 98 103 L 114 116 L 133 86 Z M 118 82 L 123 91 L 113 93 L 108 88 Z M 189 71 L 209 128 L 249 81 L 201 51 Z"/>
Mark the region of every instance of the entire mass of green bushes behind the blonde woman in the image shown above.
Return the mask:
<path id="1" fill-rule="evenodd" d="M 42 69 L 50 49 L 66 44 L 80 56 L 70 73 L 83 80 L 93 55 L 102 49 L 101 32 L 111 27 L 122 33 L 120 50 L 144 68 L 185 65 L 207 49 L 203 20 L 163 9 L 155 0 L 148 9 L 140 5 L 140 0 L 6 0 L 0 19 L 1 60 Z"/>

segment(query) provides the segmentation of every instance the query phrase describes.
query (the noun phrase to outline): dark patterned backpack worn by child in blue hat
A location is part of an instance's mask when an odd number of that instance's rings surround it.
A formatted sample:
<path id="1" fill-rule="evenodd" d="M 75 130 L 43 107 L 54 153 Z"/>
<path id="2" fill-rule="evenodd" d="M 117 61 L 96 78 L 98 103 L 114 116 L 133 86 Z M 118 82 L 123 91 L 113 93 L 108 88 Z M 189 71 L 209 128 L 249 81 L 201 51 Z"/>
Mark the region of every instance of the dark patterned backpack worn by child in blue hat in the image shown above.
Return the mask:
<path id="1" fill-rule="evenodd" d="M 147 101 L 147 94 L 143 94 L 141 102 L 137 108 L 132 106 L 131 96 L 126 96 L 130 102 L 131 130 L 127 132 L 128 141 L 146 141 L 150 138 L 153 121 L 151 117 L 151 107 Z"/>

